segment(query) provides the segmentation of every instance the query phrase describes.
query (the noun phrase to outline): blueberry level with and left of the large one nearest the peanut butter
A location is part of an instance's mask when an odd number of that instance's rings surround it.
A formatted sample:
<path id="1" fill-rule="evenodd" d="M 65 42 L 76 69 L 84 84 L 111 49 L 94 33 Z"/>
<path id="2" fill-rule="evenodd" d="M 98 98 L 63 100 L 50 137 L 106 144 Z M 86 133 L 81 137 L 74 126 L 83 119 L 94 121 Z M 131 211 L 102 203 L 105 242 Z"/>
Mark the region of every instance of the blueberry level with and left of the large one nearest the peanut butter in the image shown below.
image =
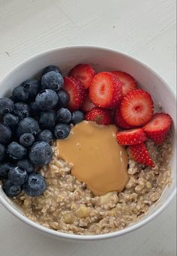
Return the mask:
<path id="1" fill-rule="evenodd" d="M 26 156 L 26 153 L 26 148 L 15 141 L 7 146 L 7 154 L 13 159 L 22 159 Z"/>

